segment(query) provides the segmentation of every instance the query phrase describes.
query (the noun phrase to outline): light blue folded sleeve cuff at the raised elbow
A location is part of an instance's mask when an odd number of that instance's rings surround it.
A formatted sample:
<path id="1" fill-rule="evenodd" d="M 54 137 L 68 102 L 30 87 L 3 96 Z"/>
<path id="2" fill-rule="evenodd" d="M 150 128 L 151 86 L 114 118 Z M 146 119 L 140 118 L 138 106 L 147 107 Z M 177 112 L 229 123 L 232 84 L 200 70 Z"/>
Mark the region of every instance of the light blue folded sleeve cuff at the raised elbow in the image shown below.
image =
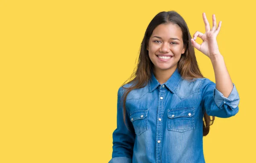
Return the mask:
<path id="1" fill-rule="evenodd" d="M 218 91 L 218 89 L 214 89 L 213 92 L 214 100 L 216 105 L 221 108 L 224 104 L 230 106 L 231 109 L 235 109 L 239 104 L 239 94 L 236 90 L 236 86 L 233 83 L 233 89 L 228 97 L 224 97 L 224 95 Z"/>

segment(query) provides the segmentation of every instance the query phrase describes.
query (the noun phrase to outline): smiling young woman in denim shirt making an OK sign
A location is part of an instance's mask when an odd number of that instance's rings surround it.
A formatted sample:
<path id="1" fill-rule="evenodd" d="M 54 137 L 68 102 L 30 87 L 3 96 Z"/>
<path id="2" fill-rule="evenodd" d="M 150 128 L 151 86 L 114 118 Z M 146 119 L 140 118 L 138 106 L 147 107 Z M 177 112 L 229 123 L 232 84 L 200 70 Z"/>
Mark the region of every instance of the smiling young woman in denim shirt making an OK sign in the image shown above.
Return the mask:
<path id="1" fill-rule="evenodd" d="M 204 163 L 203 136 L 215 116 L 239 111 L 216 40 L 221 22 L 217 27 L 213 14 L 210 28 L 205 13 L 203 19 L 205 33 L 193 38 L 175 11 L 160 12 L 149 23 L 134 78 L 118 90 L 109 163 Z M 216 84 L 201 74 L 193 47 L 211 60 Z"/>

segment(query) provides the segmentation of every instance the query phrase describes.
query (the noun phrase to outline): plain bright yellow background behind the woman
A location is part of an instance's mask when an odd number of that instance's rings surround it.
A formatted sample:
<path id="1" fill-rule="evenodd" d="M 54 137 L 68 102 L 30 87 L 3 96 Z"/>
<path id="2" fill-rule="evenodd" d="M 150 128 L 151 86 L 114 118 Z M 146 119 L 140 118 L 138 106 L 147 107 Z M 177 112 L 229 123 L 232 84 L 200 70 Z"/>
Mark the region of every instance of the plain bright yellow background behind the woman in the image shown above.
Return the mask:
<path id="1" fill-rule="evenodd" d="M 210 24 L 212 14 L 222 21 L 218 44 L 241 98 L 239 113 L 216 117 L 204 137 L 206 162 L 254 162 L 250 0 L 0 0 L 0 163 L 108 162 L 117 90 L 135 67 L 148 23 L 169 10 L 191 34 L 204 32 L 203 12 Z M 197 50 L 196 57 L 215 81 L 210 60 Z"/>

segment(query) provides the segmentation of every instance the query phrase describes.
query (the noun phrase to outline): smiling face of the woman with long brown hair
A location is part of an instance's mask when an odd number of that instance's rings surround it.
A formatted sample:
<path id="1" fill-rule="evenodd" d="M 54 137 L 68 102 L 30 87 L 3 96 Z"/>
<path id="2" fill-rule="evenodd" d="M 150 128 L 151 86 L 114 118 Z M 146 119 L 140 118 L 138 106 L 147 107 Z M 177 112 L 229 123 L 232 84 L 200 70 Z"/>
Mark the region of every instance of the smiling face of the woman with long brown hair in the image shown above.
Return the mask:
<path id="1" fill-rule="evenodd" d="M 181 54 L 186 50 L 180 27 L 171 23 L 157 26 L 149 39 L 147 50 L 154 70 L 176 69 Z"/>

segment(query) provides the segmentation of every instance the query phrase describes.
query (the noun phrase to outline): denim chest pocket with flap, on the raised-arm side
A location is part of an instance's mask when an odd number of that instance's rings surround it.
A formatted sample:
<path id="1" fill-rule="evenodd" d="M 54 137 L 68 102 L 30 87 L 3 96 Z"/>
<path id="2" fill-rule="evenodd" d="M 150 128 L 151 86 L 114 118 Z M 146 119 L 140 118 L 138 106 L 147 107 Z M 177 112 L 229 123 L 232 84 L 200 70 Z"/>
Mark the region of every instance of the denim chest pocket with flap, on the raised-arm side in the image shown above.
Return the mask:
<path id="1" fill-rule="evenodd" d="M 186 132 L 195 129 L 195 108 L 168 109 L 168 130 Z"/>

